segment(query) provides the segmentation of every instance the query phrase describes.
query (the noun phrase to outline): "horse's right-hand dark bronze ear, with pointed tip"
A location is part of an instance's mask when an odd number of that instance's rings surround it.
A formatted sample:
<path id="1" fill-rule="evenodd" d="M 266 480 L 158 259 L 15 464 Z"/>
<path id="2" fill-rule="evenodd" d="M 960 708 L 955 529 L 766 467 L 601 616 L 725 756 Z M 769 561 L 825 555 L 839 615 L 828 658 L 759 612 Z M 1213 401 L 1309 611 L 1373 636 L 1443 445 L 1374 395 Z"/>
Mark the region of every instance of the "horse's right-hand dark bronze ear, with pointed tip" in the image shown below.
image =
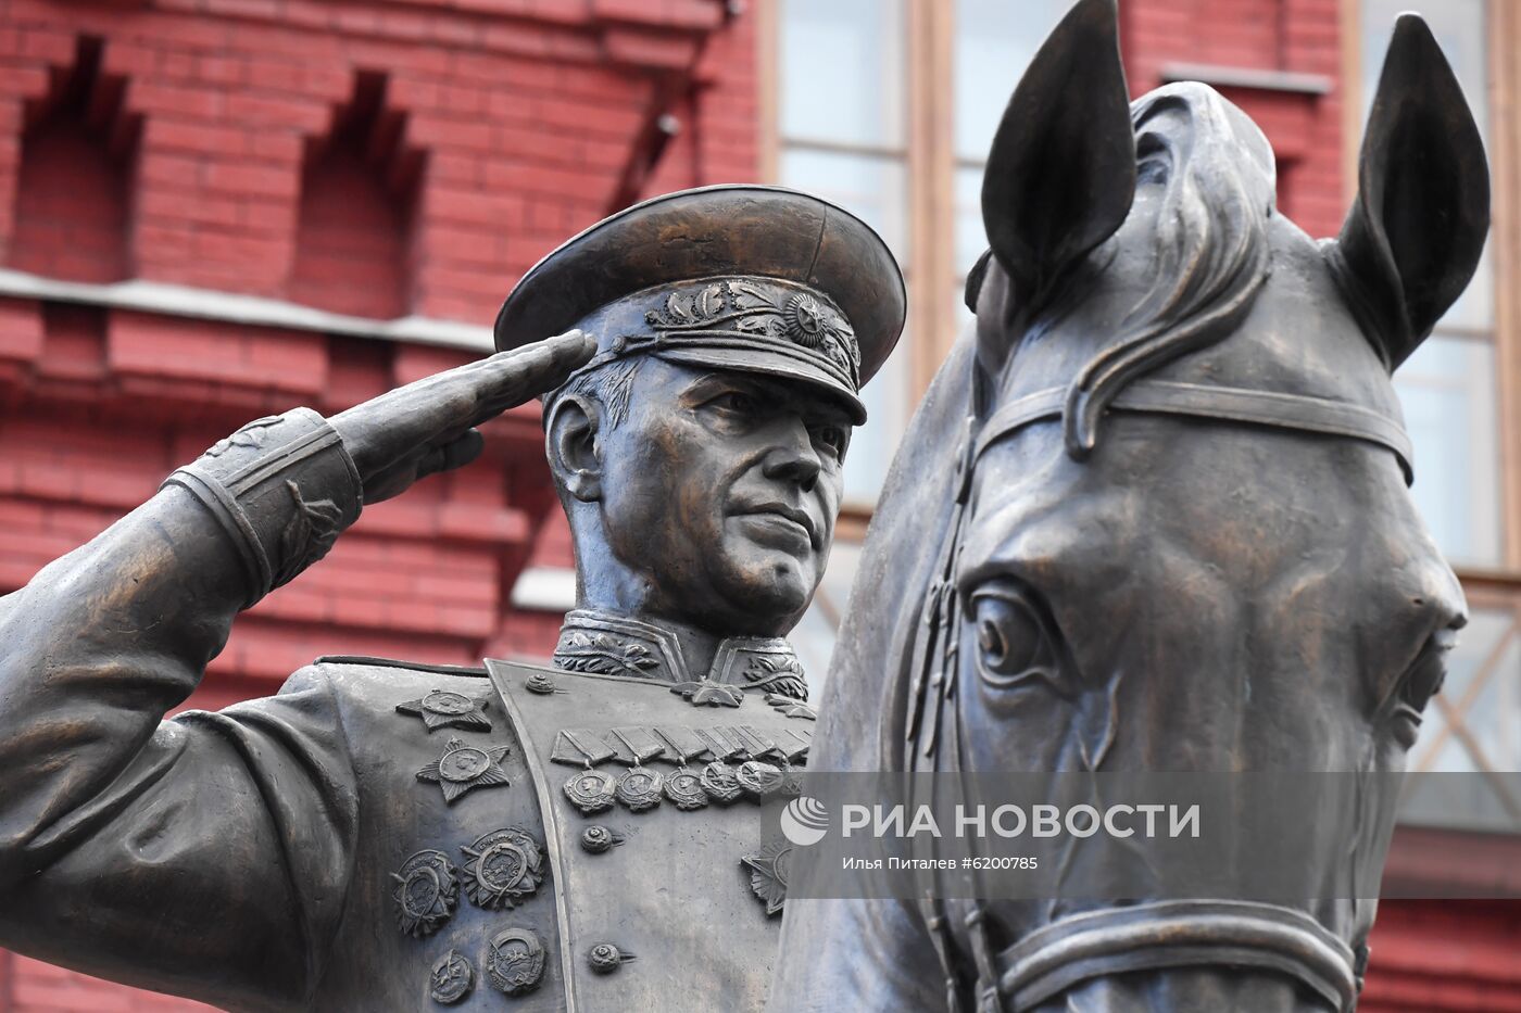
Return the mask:
<path id="1" fill-rule="evenodd" d="M 1442 47 L 1395 21 L 1367 116 L 1358 193 L 1329 263 L 1390 370 L 1463 294 L 1489 231 L 1489 167 Z"/>

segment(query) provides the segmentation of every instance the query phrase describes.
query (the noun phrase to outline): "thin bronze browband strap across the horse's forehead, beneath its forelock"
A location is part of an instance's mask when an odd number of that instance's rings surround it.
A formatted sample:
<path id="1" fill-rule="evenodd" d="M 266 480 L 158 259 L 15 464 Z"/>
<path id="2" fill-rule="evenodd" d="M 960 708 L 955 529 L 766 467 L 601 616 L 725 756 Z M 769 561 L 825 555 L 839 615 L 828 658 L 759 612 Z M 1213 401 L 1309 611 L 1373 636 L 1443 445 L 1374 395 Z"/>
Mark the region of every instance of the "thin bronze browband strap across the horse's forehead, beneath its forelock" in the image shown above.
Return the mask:
<path id="1" fill-rule="evenodd" d="M 1065 386 L 1053 386 L 1001 406 L 978 433 L 973 459 L 981 456 L 993 441 L 1018 429 L 1037 421 L 1062 418 L 1066 395 Z M 1415 481 L 1415 452 L 1404 426 L 1387 415 L 1351 402 L 1209 383 L 1135 380 L 1109 403 L 1109 411 L 1185 415 L 1363 440 L 1392 450 L 1405 473 L 1405 484 Z"/>

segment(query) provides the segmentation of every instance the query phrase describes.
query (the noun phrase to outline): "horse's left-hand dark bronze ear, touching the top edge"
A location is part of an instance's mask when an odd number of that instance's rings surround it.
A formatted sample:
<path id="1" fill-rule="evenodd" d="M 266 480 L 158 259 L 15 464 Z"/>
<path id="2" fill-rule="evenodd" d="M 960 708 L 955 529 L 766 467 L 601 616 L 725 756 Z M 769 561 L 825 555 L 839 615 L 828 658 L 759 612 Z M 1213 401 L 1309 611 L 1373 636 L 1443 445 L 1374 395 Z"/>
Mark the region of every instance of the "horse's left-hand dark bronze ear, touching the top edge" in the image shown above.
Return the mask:
<path id="1" fill-rule="evenodd" d="M 1115 0 L 1078 0 L 1019 81 L 983 176 L 983 224 L 1013 306 L 1039 309 L 1126 221 L 1135 187 Z"/>

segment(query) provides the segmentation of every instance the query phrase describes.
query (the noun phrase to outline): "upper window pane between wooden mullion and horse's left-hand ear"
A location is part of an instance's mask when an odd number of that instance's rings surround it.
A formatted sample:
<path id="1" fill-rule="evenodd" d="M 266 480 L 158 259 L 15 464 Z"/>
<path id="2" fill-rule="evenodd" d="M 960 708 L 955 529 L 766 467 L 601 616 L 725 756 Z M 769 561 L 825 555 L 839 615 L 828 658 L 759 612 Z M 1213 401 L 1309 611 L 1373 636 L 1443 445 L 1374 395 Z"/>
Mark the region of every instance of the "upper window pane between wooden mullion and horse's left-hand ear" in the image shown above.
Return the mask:
<path id="1" fill-rule="evenodd" d="M 1071 0 L 955 0 L 957 158 L 987 158 L 1008 96 L 1071 6 Z"/>

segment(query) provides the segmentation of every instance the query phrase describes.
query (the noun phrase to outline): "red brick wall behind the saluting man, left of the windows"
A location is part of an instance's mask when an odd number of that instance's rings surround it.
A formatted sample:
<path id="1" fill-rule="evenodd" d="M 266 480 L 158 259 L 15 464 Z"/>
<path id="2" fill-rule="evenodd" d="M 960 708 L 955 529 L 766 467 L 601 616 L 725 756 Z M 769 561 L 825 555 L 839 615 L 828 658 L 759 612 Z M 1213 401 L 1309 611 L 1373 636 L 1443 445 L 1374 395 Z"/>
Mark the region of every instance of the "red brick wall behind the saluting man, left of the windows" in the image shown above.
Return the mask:
<path id="1" fill-rule="evenodd" d="M 619 201 L 756 178 L 753 49 L 716 0 L 0 0 L 0 268 L 485 324 Z M 468 357 L 0 295 L 0 593 L 243 421 Z M 537 408 L 487 435 L 243 616 L 189 703 L 329 653 L 548 654 L 558 616 L 508 605 L 570 560 Z M 5 1013 L 187 1008 L 0 952 Z"/>

